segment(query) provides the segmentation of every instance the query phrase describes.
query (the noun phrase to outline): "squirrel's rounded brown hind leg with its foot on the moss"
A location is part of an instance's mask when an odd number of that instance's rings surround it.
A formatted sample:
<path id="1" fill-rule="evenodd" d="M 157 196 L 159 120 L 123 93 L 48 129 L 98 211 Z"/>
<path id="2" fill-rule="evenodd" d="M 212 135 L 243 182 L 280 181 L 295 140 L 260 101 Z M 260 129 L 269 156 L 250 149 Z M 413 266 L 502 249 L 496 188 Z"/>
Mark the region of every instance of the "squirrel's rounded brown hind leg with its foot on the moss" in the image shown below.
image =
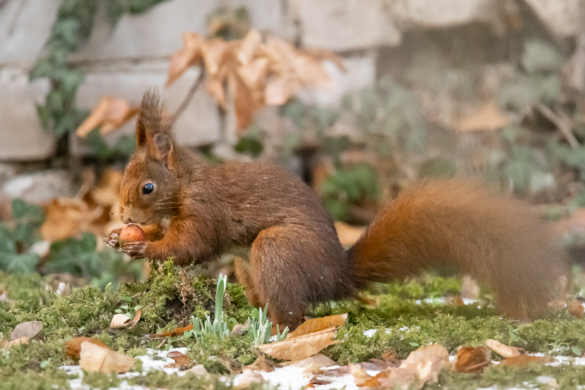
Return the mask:
<path id="1" fill-rule="evenodd" d="M 339 257 L 338 257 L 339 256 Z M 250 249 L 252 288 L 268 303 L 274 325 L 290 330 L 304 322 L 310 303 L 335 299 L 342 275 L 343 249 L 326 247 L 307 227 L 283 224 L 262 230 Z"/>

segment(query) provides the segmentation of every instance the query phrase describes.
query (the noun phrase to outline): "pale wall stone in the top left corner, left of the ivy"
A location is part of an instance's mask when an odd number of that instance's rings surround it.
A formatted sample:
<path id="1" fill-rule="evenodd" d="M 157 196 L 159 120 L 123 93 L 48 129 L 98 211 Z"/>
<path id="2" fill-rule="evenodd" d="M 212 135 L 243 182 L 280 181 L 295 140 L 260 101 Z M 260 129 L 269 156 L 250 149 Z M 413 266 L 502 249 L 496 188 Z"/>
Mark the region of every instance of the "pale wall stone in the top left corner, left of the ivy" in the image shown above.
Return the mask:
<path id="1" fill-rule="evenodd" d="M 60 0 L 9 1 L 0 9 L 0 64 L 30 68 L 42 53 Z"/>

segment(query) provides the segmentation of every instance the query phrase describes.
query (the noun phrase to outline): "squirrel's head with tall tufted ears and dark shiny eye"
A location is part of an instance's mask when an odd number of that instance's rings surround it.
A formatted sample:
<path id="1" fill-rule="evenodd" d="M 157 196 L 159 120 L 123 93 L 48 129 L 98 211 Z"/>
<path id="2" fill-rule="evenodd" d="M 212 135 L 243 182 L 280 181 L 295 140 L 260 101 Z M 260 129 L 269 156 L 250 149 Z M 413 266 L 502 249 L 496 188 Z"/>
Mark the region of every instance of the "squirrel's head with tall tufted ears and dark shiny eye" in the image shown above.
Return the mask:
<path id="1" fill-rule="evenodd" d="M 120 218 L 152 225 L 172 218 L 179 205 L 175 140 L 156 92 L 146 92 L 140 103 L 136 144 L 120 187 Z"/>

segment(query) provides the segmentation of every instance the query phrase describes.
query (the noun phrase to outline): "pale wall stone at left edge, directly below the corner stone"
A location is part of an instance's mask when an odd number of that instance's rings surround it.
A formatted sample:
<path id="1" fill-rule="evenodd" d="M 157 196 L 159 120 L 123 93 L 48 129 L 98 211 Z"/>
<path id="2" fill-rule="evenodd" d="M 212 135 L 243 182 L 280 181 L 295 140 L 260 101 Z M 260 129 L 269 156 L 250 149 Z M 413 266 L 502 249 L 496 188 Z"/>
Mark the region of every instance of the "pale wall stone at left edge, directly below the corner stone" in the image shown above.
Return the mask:
<path id="1" fill-rule="evenodd" d="M 53 156 L 54 137 L 44 130 L 37 116 L 36 103 L 49 92 L 49 82 L 29 82 L 19 68 L 0 70 L 0 134 L 3 147 L 0 161 L 44 160 Z"/>

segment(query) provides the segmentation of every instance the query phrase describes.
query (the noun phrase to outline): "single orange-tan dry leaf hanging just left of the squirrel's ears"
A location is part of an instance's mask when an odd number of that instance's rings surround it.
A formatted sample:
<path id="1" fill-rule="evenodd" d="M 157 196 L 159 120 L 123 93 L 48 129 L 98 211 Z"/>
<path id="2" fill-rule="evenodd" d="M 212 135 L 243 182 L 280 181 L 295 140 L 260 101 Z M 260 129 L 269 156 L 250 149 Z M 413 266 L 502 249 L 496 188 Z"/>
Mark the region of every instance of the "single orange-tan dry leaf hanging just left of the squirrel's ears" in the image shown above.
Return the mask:
<path id="1" fill-rule="evenodd" d="M 122 127 L 137 112 L 138 108 L 130 106 L 125 99 L 105 96 L 94 111 L 91 112 L 90 116 L 75 130 L 75 134 L 78 137 L 85 137 L 99 125 L 102 125 L 101 133 L 105 134 Z"/>

